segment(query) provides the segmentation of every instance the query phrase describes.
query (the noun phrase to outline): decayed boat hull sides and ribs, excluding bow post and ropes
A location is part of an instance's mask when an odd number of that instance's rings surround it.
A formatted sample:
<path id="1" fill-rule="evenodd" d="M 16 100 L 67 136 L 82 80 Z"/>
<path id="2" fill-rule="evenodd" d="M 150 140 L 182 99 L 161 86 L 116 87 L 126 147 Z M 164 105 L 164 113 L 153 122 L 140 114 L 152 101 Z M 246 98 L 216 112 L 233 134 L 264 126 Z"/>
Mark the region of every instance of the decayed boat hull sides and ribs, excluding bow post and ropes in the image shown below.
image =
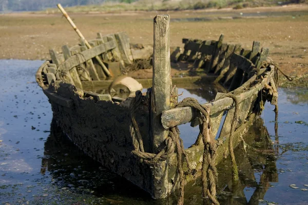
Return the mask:
<path id="1" fill-rule="evenodd" d="M 88 92 L 97 87 L 108 89 L 113 81 L 104 78 L 101 71 L 98 72 L 101 68 L 95 67 L 96 64 L 92 61 L 94 56 L 99 55 L 107 65 L 108 62 L 110 65 L 117 64 L 120 73 L 125 73 L 125 69 L 134 60 L 129 54 L 129 51 L 131 52 L 127 46 L 129 42 L 127 39 L 123 40 L 123 35 L 112 34 L 105 38 L 109 40 L 107 43 L 99 44 L 98 39 L 90 41 L 94 48 L 89 50 L 83 51 L 83 46 L 77 45 L 68 49 L 70 54 L 65 54 L 65 50 L 61 55 L 50 52 L 52 60 L 46 61 L 38 69 L 37 83 L 49 98 L 57 125 L 75 145 L 111 171 L 150 193 L 153 198 L 165 198 L 179 188 L 177 154 L 174 153 L 165 161 L 149 165 L 131 153 L 136 149 L 133 138 L 133 135 L 136 135 L 134 130 L 136 128 L 132 124 L 132 115 L 136 118 L 142 136 L 144 152 L 156 153 L 153 151 L 155 142 L 153 142 L 151 117 L 152 90 L 148 89 L 147 93 L 144 93 L 134 113 L 132 113 L 132 107 L 136 104 L 136 97 L 122 99 L 111 97 L 110 94 Z M 252 50 L 245 50 L 239 45 L 222 44 L 222 40 L 223 36 L 218 41 L 206 42 L 183 39 L 184 52 L 180 52 L 178 48 L 175 49 L 171 54 L 171 57 L 175 58 L 171 60 L 194 65 L 195 72 L 202 71 L 207 75 L 172 79 L 174 83 L 185 83 L 185 80 L 217 81 L 226 90 L 236 95 L 241 108 L 233 140 L 233 147 L 236 147 L 242 140 L 241 135 L 260 114 L 265 100 L 275 104 L 277 100 L 276 70 L 274 66 L 268 64 L 261 67 L 267 60 L 268 49 L 262 49 L 259 52 L 259 43 L 255 42 Z M 81 54 L 72 55 L 72 53 Z M 85 68 L 82 68 L 84 65 L 86 65 Z M 109 68 L 116 73 L 117 69 Z M 80 72 L 82 70 L 87 70 L 87 75 L 83 75 L 84 73 Z M 66 73 L 68 77 L 59 75 L 60 71 Z M 144 86 L 154 85 L 153 81 L 139 79 Z M 176 97 L 172 100 L 176 100 Z M 214 101 L 204 106 L 210 109 L 211 129 L 214 136 L 218 133 L 223 113 L 227 112 L 218 138 L 216 163 L 219 163 L 228 150 L 228 134 L 234 115 L 234 101 L 232 98 L 224 97 L 224 93 L 218 93 Z M 190 107 L 173 108 L 164 110 L 162 115 L 159 115 L 159 123 L 162 129 L 169 129 L 187 122 L 196 126 L 198 117 L 198 112 Z M 195 177 L 200 175 L 203 150 L 203 145 L 185 150 L 190 167 L 196 170 L 194 175 L 189 173 L 186 175 L 186 182 L 195 180 Z M 187 171 L 184 160 L 183 169 L 184 172 Z"/>

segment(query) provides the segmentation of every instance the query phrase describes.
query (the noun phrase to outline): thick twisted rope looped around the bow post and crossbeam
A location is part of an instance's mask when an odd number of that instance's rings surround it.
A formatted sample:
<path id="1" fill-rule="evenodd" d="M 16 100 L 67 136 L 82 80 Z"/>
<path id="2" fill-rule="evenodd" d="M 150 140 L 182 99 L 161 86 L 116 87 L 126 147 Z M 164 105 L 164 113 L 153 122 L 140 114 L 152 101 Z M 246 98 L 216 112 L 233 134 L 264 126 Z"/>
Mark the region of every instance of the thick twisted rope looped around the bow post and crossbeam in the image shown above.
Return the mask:
<path id="1" fill-rule="evenodd" d="M 140 157 L 146 163 L 156 163 L 158 161 L 164 161 L 168 159 L 172 154 L 177 152 L 177 170 L 179 173 L 180 179 L 180 199 L 178 204 L 183 204 L 184 202 L 184 185 L 185 185 L 185 177 L 183 171 L 183 163 L 182 157 L 184 156 L 185 161 L 187 163 L 188 172 L 191 172 L 191 168 L 189 166 L 188 157 L 184 150 L 183 140 L 180 137 L 180 131 L 178 127 L 170 128 L 169 135 L 165 139 L 165 147 L 158 154 L 146 153 L 143 149 L 142 137 L 138 128 L 138 124 L 136 121 L 136 111 L 138 106 L 142 102 L 142 94 L 141 92 L 136 92 L 136 97 L 134 101 L 131 102 L 130 113 L 131 113 L 131 136 L 133 141 L 133 146 L 135 148 L 131 153 Z M 210 127 L 210 117 L 209 117 L 209 109 L 205 106 L 202 106 L 198 103 L 195 98 L 185 98 L 183 99 L 176 107 L 192 107 L 198 110 L 201 114 L 199 118 L 200 121 L 200 134 L 202 136 L 202 141 L 204 144 L 203 151 L 203 162 L 202 162 L 202 185 L 203 185 L 203 197 L 208 196 L 213 204 L 219 204 L 216 199 L 216 182 L 217 182 L 217 169 L 216 165 L 216 151 L 217 151 L 217 143 L 216 140 L 212 137 Z"/>

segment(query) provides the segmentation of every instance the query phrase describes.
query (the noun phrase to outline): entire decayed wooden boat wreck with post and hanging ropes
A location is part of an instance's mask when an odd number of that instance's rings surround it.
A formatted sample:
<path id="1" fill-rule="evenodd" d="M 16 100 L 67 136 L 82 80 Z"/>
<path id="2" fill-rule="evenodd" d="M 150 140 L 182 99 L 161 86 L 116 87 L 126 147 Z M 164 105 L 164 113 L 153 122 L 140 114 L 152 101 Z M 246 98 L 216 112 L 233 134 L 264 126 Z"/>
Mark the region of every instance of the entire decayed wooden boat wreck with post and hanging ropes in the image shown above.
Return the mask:
<path id="1" fill-rule="evenodd" d="M 199 176 L 206 184 L 215 165 L 234 155 L 265 101 L 277 105 L 278 97 L 276 64 L 259 42 L 247 50 L 224 43 L 223 35 L 183 38 L 184 49 L 170 52 L 169 21 L 154 18 L 153 46 L 132 45 L 124 32 L 98 33 L 60 53 L 50 50 L 36 73 L 57 126 L 74 144 L 156 199 Z M 180 66 L 189 72 L 171 76 Z M 138 78 L 145 69 L 152 77 Z M 200 83 L 217 85 L 213 100 L 178 102 L 178 88 Z M 188 122 L 200 134 L 184 149 L 177 126 Z M 215 197 L 213 183 L 203 192 Z"/>

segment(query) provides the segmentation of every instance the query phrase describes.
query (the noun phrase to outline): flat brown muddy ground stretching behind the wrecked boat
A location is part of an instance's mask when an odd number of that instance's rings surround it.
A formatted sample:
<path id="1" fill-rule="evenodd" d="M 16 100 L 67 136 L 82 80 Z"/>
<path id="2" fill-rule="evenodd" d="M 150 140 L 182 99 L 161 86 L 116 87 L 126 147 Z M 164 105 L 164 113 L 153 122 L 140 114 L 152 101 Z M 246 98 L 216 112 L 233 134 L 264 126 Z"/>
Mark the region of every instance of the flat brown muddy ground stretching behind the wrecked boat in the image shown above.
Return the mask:
<path id="1" fill-rule="evenodd" d="M 160 12 L 162 13 L 162 12 Z M 170 45 L 182 38 L 218 39 L 251 48 L 254 40 L 268 47 L 286 74 L 297 76 L 284 87 L 308 87 L 308 5 L 271 8 L 170 11 Z M 71 17 L 86 38 L 126 31 L 132 43 L 152 44 L 152 18 L 158 12 L 80 13 Z M 72 46 L 78 36 L 60 14 L 0 15 L 0 58 L 49 59 L 48 49 Z"/>

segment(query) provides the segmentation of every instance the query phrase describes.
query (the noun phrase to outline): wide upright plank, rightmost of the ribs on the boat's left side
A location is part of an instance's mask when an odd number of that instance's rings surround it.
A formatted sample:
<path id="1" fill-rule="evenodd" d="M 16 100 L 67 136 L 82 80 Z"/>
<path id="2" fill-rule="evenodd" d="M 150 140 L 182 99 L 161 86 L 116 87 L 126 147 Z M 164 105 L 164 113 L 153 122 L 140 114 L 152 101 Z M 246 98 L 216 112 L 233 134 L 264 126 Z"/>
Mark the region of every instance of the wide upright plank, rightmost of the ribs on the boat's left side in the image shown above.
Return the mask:
<path id="1" fill-rule="evenodd" d="M 120 32 L 114 34 L 115 39 L 117 39 L 118 48 L 120 50 L 122 59 L 125 65 L 131 65 L 133 58 L 130 51 L 129 38 L 126 33 Z"/>

